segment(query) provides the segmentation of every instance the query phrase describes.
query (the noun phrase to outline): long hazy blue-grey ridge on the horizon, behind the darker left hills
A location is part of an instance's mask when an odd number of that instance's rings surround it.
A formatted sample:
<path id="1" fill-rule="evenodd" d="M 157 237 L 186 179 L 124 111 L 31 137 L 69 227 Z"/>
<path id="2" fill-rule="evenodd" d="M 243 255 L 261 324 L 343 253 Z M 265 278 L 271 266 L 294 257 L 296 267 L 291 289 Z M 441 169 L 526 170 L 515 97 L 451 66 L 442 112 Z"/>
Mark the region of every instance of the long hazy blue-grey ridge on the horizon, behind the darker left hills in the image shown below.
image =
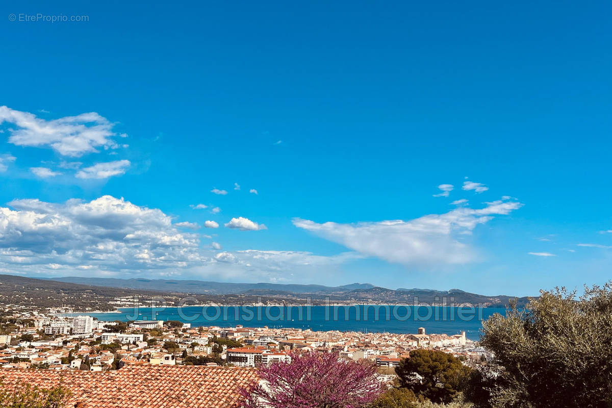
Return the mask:
<path id="1" fill-rule="evenodd" d="M 88 284 L 94 286 L 122 287 L 125 289 L 142 289 L 149 291 L 172 291 L 209 295 L 257 294 L 257 291 L 291 292 L 293 294 L 341 294 L 354 289 L 370 289 L 369 283 L 352 283 L 344 286 L 323 286 L 315 284 L 278 284 L 278 283 L 221 283 L 196 280 L 166 279 L 114 279 L 114 278 L 81 278 L 66 276 L 50 278 L 54 281 Z M 253 292 L 255 291 L 255 292 Z"/>

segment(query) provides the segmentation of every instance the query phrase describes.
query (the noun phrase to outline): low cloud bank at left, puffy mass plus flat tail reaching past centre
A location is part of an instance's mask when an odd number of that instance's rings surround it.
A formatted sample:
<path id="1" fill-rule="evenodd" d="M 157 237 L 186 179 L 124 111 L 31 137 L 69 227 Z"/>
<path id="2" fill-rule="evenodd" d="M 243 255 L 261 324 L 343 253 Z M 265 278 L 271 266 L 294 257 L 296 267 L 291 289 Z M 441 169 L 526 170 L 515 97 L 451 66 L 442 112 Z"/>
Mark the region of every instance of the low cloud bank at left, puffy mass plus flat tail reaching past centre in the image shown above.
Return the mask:
<path id="1" fill-rule="evenodd" d="M 362 258 L 358 253 L 218 252 L 218 243 L 201 247 L 197 234 L 179 231 L 187 224 L 192 223 L 173 224 L 162 210 L 113 196 L 59 204 L 14 200 L 0 207 L 0 272 L 310 281 L 313 273 L 333 273 Z"/>

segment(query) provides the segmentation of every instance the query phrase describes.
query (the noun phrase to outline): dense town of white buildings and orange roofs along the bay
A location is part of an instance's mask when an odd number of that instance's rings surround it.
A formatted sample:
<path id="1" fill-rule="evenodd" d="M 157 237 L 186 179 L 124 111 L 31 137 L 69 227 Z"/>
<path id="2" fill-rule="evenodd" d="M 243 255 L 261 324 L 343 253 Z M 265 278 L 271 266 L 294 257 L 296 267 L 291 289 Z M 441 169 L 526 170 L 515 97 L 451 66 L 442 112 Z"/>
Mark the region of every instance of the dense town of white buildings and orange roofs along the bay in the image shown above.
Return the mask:
<path id="1" fill-rule="evenodd" d="M 480 362 L 487 352 L 457 335 L 315 332 L 299 328 L 191 327 L 179 321 L 99 321 L 91 316 L 16 313 L 2 320 L 0 366 L 107 371 L 124 365 L 233 365 L 289 362 L 291 351 L 334 352 L 393 368 L 415 349 Z M 392 371 L 389 371 L 392 373 Z"/>

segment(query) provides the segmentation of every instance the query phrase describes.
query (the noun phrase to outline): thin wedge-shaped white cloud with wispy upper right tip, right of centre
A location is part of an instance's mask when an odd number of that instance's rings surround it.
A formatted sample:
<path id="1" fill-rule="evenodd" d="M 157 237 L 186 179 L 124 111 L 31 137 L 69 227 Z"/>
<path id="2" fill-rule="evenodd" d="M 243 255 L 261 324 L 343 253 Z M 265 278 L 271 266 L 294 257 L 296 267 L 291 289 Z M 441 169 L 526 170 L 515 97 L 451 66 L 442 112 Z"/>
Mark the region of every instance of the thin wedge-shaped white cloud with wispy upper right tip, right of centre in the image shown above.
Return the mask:
<path id="1" fill-rule="evenodd" d="M 517 201 L 488 202 L 482 209 L 458 207 L 447 213 L 414 220 L 340 224 L 295 218 L 294 225 L 367 256 L 406 265 L 467 264 L 477 253 L 464 242 L 479 224 L 522 206 Z"/>

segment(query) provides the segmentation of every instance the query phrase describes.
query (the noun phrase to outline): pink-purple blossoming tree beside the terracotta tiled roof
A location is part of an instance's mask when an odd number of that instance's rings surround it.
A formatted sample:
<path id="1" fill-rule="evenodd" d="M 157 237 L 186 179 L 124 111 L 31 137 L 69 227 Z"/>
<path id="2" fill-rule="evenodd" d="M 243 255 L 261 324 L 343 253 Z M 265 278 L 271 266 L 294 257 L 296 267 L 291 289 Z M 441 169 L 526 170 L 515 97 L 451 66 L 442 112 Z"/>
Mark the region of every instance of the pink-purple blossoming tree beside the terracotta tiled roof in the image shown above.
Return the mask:
<path id="1" fill-rule="evenodd" d="M 243 408 L 362 408 L 383 392 L 371 363 L 326 353 L 293 353 L 292 362 L 260 366 L 241 391 Z"/>

